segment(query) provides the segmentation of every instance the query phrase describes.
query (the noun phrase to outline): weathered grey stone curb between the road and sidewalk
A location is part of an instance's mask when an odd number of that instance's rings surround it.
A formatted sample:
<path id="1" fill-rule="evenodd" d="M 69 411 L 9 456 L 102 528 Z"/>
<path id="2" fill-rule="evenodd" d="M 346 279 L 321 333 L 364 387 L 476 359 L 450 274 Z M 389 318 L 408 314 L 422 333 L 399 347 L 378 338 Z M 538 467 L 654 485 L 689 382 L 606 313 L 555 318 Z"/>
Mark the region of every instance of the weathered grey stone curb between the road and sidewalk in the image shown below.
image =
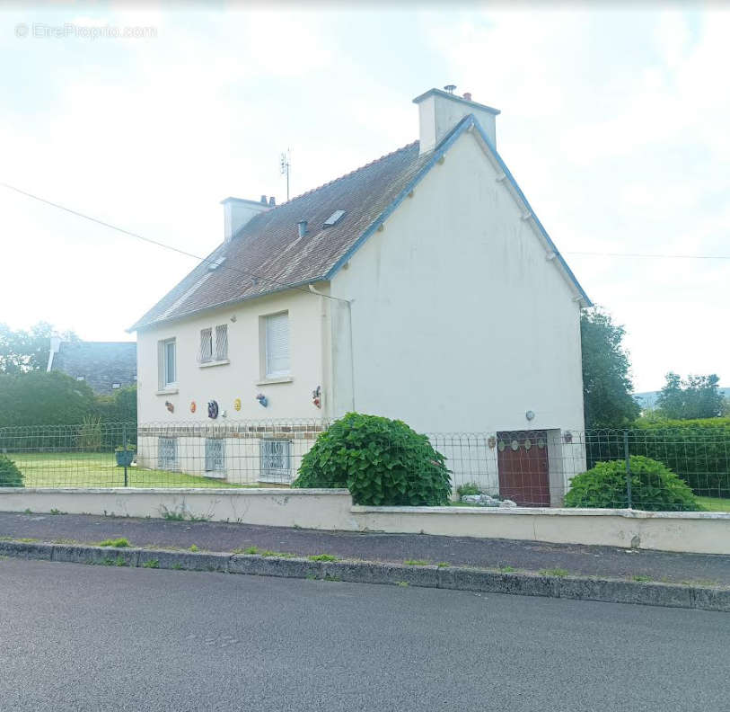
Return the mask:
<path id="1" fill-rule="evenodd" d="M 21 541 L 0 541 L 0 556 L 91 565 L 313 578 L 347 583 L 389 583 L 453 591 L 511 593 L 573 601 L 638 603 L 645 606 L 730 612 L 730 589 L 679 583 L 640 583 L 589 576 L 502 573 L 466 566 L 409 566 L 370 561 L 325 562 L 295 556 L 216 554 Z"/>

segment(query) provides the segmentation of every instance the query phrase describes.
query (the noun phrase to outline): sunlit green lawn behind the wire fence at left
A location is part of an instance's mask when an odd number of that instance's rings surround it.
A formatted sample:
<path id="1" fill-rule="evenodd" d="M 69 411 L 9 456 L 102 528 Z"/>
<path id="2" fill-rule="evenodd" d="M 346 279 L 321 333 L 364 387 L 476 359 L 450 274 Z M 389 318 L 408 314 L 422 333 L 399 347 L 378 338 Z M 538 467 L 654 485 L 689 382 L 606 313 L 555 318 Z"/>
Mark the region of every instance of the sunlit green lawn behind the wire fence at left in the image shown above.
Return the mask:
<path id="1" fill-rule="evenodd" d="M 123 487 L 124 467 L 113 453 L 33 452 L 8 453 L 21 469 L 26 487 Z M 168 470 L 128 467 L 129 487 L 244 487 Z"/>

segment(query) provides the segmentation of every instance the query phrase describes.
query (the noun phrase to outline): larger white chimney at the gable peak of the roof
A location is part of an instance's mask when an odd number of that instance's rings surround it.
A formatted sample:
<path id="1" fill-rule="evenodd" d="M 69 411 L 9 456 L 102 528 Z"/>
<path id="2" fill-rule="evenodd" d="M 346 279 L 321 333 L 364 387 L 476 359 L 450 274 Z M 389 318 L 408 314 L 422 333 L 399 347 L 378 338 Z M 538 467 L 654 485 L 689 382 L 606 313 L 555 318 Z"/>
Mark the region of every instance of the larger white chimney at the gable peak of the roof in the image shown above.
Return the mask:
<path id="1" fill-rule="evenodd" d="M 474 114 L 492 142 L 492 146 L 497 145 L 495 118 L 499 110 L 472 102 L 471 93 L 465 93 L 463 96 L 451 93 L 455 88 L 455 86 L 449 85 L 451 90 L 449 92 L 429 89 L 413 100 L 413 103 L 418 104 L 419 152 L 421 155 L 433 151 L 442 138 L 467 114 Z"/>

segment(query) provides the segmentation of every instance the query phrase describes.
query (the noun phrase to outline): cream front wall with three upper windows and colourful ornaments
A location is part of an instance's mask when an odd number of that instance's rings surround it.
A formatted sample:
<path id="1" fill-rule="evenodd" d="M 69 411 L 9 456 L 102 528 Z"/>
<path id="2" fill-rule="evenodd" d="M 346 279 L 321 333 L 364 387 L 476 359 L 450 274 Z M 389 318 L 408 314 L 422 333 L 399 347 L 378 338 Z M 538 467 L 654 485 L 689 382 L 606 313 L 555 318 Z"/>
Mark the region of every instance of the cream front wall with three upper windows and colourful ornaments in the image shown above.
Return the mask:
<path id="1" fill-rule="evenodd" d="M 312 390 L 322 385 L 321 297 L 299 290 L 287 290 L 231 307 L 210 310 L 164 325 L 141 330 L 138 341 L 138 419 L 148 423 L 213 423 L 207 403 L 215 400 L 227 420 L 321 418 L 323 411 L 312 405 Z M 261 383 L 261 334 L 259 318 L 287 310 L 291 380 Z M 235 318 L 232 321 L 232 318 Z M 227 325 L 228 364 L 201 366 L 198 362 L 200 331 Z M 177 393 L 159 391 L 158 343 L 174 338 L 177 351 Z M 268 398 L 262 407 L 256 396 Z M 236 411 L 234 400 L 241 398 Z M 195 413 L 190 412 L 196 402 Z M 170 402 L 174 412 L 165 406 Z M 224 424 L 220 415 L 216 424 Z"/>

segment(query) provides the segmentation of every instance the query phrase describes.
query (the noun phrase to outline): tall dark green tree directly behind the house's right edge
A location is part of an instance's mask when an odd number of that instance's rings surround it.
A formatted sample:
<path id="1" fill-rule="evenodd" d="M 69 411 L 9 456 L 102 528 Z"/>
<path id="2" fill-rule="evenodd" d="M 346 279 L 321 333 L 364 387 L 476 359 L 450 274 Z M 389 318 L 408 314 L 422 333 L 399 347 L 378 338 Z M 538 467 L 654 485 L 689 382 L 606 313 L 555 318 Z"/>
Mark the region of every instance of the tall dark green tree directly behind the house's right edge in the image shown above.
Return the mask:
<path id="1" fill-rule="evenodd" d="M 631 396 L 629 353 L 623 346 L 623 326 L 613 324 L 600 307 L 581 312 L 583 405 L 586 428 L 621 428 L 640 413 Z"/>

